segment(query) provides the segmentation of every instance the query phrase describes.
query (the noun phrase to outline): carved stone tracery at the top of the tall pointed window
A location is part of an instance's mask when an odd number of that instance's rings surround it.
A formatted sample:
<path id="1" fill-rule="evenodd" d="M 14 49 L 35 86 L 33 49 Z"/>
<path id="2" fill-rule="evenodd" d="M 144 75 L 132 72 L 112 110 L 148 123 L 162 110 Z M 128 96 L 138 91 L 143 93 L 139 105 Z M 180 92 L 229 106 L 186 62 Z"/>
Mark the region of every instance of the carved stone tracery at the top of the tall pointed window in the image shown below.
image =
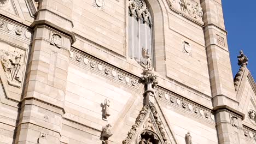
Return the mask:
<path id="1" fill-rule="evenodd" d="M 135 15 L 137 17 L 137 20 L 142 19 L 144 23 L 148 22 L 149 25 L 152 25 L 150 13 L 144 1 L 129 0 L 128 4 L 129 4 L 129 14 L 131 16 Z"/>

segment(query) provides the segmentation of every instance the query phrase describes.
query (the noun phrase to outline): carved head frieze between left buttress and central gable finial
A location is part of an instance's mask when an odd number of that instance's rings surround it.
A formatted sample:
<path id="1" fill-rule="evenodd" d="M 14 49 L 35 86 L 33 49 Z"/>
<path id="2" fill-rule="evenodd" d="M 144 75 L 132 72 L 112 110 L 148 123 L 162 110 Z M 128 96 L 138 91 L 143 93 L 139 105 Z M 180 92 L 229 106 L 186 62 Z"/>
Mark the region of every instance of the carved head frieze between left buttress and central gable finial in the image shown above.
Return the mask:
<path id="1" fill-rule="evenodd" d="M 108 76 L 121 83 L 124 83 L 125 85 L 131 86 L 136 89 L 140 85 L 138 79 L 133 78 L 131 75 L 125 74 L 123 71 L 111 68 L 107 64 L 104 64 L 89 56 L 82 55 L 72 50 L 70 58 L 73 62 L 79 63 L 86 68 L 97 71 L 98 73 L 104 76 Z"/>

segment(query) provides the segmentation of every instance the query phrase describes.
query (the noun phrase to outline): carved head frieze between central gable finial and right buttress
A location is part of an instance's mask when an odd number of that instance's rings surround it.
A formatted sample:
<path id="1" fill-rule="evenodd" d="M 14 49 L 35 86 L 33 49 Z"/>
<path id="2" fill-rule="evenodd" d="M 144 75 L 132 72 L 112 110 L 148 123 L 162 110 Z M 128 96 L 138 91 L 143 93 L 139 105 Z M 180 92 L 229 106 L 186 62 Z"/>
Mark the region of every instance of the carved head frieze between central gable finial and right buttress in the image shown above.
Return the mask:
<path id="1" fill-rule="evenodd" d="M 192 113 L 193 115 L 200 116 L 202 118 L 207 119 L 208 121 L 215 122 L 215 118 L 213 112 L 203 109 L 201 106 L 191 103 L 188 100 L 184 100 L 177 95 L 167 93 L 161 91 L 161 89 L 156 88 L 157 99 L 163 100 L 168 104 L 175 105 L 181 109 L 187 110 L 188 112 Z"/>

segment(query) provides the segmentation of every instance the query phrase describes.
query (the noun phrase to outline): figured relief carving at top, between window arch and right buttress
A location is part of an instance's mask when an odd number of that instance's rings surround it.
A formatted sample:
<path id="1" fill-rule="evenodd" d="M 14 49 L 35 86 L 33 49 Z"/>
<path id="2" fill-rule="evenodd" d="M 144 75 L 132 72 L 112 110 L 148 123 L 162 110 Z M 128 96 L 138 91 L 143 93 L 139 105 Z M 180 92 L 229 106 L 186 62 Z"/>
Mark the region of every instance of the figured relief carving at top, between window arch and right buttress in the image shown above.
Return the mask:
<path id="1" fill-rule="evenodd" d="M 172 10 L 196 20 L 203 25 L 203 10 L 199 3 L 192 0 L 167 0 L 167 3 Z"/>

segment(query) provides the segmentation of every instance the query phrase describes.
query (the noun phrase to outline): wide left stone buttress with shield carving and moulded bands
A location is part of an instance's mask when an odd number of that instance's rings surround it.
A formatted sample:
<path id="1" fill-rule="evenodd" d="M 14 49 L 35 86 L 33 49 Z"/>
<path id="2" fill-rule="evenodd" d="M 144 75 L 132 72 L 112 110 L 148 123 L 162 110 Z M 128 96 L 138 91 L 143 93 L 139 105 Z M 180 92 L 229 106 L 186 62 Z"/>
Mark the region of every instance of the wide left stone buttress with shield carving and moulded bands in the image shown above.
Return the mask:
<path id="1" fill-rule="evenodd" d="M 61 143 L 72 1 L 39 1 L 15 143 Z"/>

